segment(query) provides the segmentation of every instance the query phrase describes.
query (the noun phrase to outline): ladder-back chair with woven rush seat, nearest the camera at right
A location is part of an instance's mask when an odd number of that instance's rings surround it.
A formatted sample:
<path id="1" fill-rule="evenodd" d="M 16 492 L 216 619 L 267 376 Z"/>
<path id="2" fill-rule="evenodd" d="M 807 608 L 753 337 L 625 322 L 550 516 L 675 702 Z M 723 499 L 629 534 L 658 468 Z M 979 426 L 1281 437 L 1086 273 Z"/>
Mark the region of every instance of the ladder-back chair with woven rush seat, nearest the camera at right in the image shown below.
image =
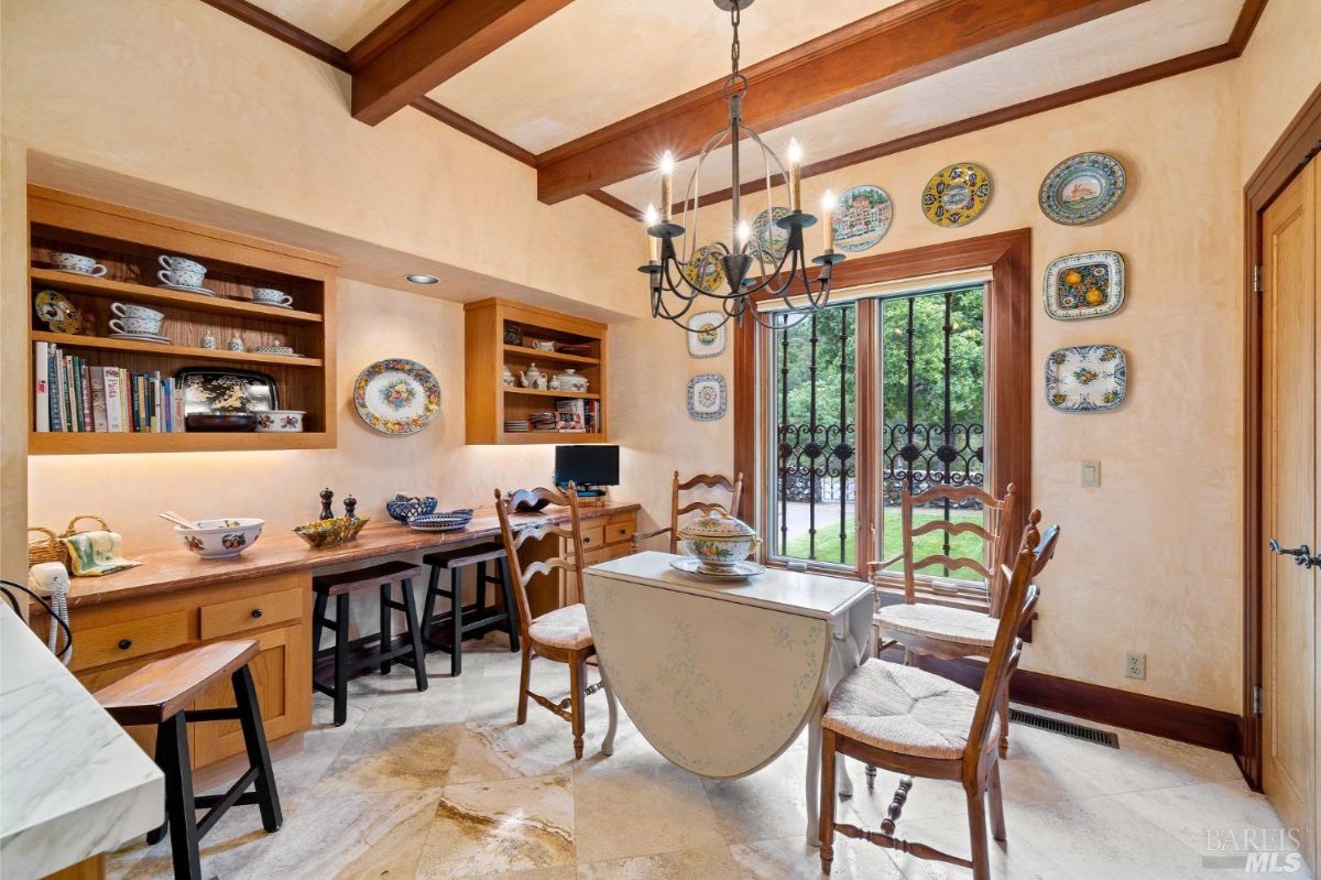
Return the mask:
<path id="1" fill-rule="evenodd" d="M 988 880 L 987 806 L 991 832 L 1005 840 L 1000 754 L 996 743 L 1004 723 L 999 711 L 1009 677 L 1018 665 L 1018 637 L 1036 604 L 1036 572 L 1054 554 L 1059 527 L 1045 539 L 1037 531 L 1040 511 L 1032 511 L 1013 568 L 1007 576 L 1005 605 L 996 621 L 993 645 L 982 688 L 972 691 L 933 673 L 881 659 L 869 659 L 849 673 L 831 694 L 822 719 L 820 839 L 822 869 L 830 872 L 835 832 L 889 850 L 972 868 L 974 880 Z M 835 822 L 835 754 L 905 774 L 880 831 Z M 911 777 L 952 780 L 963 786 L 968 805 L 971 858 L 942 852 L 896 835 Z"/>

